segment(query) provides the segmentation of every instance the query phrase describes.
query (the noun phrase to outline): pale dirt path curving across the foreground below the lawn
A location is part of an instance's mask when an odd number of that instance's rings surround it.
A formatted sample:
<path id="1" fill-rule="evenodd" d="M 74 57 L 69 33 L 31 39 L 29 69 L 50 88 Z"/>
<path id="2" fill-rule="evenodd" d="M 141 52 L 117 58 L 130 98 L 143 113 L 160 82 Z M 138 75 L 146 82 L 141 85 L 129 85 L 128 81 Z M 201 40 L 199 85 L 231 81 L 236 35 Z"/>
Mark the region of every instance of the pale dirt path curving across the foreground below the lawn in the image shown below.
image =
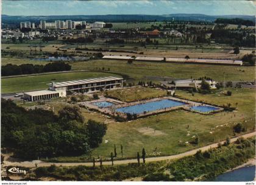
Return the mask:
<path id="1" fill-rule="evenodd" d="M 235 137 L 230 139 L 230 142 L 235 142 L 236 139 L 243 137 L 243 138 L 250 138 L 252 136 L 256 135 L 256 131 L 252 133 L 243 134 L 241 136 Z M 222 141 L 221 144 L 224 144 L 225 141 Z M 214 144 L 207 145 L 205 147 L 196 148 L 194 150 L 190 150 L 188 152 L 180 153 L 178 155 L 171 155 L 171 156 L 159 156 L 159 157 L 152 157 L 152 158 L 146 158 L 146 162 L 154 162 L 154 161 L 163 161 L 163 160 L 170 160 L 170 159 L 179 159 L 183 158 L 185 156 L 194 155 L 197 151 L 201 150 L 204 152 L 205 150 L 209 150 L 210 148 L 216 148 L 218 147 L 218 142 Z M 93 162 L 44 162 L 44 161 L 22 161 L 22 162 L 15 162 L 12 160 L 4 161 L 4 166 L 23 166 L 23 167 L 35 167 L 35 163 L 38 164 L 38 167 L 42 166 L 51 166 L 52 164 L 55 164 L 56 166 L 93 166 Z M 128 163 L 137 163 L 137 159 L 126 159 L 126 160 L 119 160 L 114 161 L 114 164 L 128 164 Z M 111 161 L 103 161 L 103 165 L 111 165 Z M 96 162 L 96 166 L 99 166 L 99 162 Z"/>

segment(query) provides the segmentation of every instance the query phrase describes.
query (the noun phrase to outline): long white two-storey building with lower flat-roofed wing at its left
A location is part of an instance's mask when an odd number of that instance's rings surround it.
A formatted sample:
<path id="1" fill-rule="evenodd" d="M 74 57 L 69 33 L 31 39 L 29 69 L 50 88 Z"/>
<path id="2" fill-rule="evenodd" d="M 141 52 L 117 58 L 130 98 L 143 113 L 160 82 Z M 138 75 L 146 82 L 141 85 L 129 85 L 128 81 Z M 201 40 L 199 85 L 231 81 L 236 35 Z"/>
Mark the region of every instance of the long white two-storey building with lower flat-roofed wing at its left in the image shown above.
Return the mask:
<path id="1" fill-rule="evenodd" d="M 42 91 L 24 92 L 24 99 L 38 101 L 54 97 L 66 97 L 68 92 L 97 92 L 109 89 L 123 88 L 123 78 L 102 77 L 96 79 L 72 80 L 66 82 L 51 82 L 49 89 Z"/>

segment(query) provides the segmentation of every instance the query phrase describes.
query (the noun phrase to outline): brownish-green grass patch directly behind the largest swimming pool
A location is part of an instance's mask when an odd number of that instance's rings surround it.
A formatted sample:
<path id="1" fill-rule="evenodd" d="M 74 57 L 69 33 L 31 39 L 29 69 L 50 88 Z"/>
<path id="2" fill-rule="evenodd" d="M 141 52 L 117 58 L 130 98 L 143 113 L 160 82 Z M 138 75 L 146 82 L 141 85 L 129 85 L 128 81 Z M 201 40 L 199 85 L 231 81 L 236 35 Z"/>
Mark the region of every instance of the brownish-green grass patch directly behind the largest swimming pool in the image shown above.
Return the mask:
<path id="1" fill-rule="evenodd" d="M 154 97 L 161 97 L 167 95 L 165 90 L 143 87 L 105 91 L 104 94 L 107 94 L 109 97 L 119 99 L 123 102 L 133 102 L 135 100 L 152 99 Z"/>

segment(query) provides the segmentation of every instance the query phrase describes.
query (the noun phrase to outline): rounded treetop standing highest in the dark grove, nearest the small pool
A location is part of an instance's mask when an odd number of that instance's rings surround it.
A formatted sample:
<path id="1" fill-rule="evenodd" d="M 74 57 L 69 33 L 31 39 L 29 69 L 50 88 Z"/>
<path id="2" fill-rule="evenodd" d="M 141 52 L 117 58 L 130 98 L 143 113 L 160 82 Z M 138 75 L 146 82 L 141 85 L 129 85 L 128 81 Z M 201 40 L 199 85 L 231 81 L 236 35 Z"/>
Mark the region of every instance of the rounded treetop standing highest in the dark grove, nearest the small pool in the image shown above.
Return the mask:
<path id="1" fill-rule="evenodd" d="M 77 122 L 84 123 L 85 119 L 82 116 L 80 108 L 77 106 L 65 106 L 59 111 L 59 117 L 63 122 L 68 122 L 69 120 L 76 120 Z"/>

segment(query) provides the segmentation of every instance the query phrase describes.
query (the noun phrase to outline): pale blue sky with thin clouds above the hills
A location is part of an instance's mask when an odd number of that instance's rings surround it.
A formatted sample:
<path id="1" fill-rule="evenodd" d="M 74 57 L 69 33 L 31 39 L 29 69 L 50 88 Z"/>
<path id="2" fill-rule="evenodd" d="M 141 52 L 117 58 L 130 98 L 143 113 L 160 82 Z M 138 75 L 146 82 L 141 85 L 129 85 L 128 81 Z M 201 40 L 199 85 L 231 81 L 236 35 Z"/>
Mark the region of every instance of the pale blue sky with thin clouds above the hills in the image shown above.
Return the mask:
<path id="1" fill-rule="evenodd" d="M 2 15 L 107 15 L 201 13 L 205 15 L 256 15 L 256 0 L 88 0 L 11 1 L 2 0 Z"/>

